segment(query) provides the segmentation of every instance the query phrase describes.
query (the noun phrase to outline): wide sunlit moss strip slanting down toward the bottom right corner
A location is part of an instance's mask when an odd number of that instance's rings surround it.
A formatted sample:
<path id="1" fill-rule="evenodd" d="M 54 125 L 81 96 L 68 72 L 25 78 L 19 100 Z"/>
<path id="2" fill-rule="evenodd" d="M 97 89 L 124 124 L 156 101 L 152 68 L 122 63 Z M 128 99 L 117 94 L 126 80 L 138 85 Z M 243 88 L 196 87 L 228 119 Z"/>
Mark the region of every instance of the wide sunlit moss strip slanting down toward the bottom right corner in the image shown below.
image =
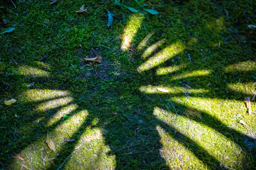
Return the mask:
<path id="1" fill-rule="evenodd" d="M 191 108 L 190 112 L 193 109 L 194 108 Z M 210 156 L 212 156 L 213 159 L 226 162 L 227 164 L 231 165 L 231 167 L 238 166 L 241 160 L 245 159 L 245 156 L 243 153 L 241 153 L 241 148 L 238 144 L 233 142 L 232 139 L 229 139 L 222 132 L 218 132 L 214 128 L 209 127 L 209 125 L 207 125 L 207 122 L 204 123 L 204 121 L 191 119 L 192 117 L 179 115 L 180 113 L 174 116 L 174 113 L 170 113 L 168 110 L 163 111 L 167 115 L 169 115 L 168 118 L 166 116 L 163 116 L 163 113 L 159 108 L 155 108 L 154 115 L 157 116 L 157 119 L 159 119 L 160 122 L 164 122 L 163 124 L 169 125 L 171 129 L 173 128 L 174 132 L 170 131 L 170 133 L 168 133 L 168 130 L 165 130 L 166 135 L 169 136 L 169 139 L 172 139 L 175 136 L 179 136 L 179 138 L 177 138 L 176 140 L 179 141 L 180 144 L 183 144 L 183 146 L 188 147 L 190 150 L 193 147 L 196 150 L 200 148 L 202 150 L 201 152 L 209 154 Z M 197 110 L 195 111 L 198 112 L 197 115 L 201 115 L 201 119 L 204 119 L 203 114 L 208 114 L 200 113 L 200 111 Z M 163 126 L 162 128 L 165 128 L 165 126 Z M 165 137 L 164 139 L 168 138 Z M 169 148 L 166 149 L 166 153 L 168 153 L 168 151 L 172 147 L 175 147 L 173 143 L 165 143 L 166 142 L 163 142 L 163 147 L 165 147 L 165 145 L 169 145 Z M 189 152 L 189 150 L 186 152 Z M 171 152 L 169 154 L 173 153 Z M 186 153 L 186 155 L 188 154 L 189 153 Z M 197 156 L 201 155 L 189 157 L 194 157 L 195 159 Z"/>

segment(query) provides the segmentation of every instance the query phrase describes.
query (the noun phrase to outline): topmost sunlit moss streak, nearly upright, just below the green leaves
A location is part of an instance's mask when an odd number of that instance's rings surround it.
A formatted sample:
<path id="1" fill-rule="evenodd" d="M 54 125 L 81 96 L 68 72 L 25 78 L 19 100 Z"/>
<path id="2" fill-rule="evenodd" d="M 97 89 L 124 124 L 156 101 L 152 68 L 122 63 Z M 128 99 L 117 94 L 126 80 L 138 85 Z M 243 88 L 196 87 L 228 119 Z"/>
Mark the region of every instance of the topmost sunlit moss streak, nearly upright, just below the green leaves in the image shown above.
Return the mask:
<path id="1" fill-rule="evenodd" d="M 129 21 L 124 29 L 124 34 L 122 35 L 121 49 L 123 51 L 128 50 L 131 47 L 131 42 L 140 28 L 143 19 L 144 17 L 140 14 L 132 14 L 132 16 L 129 18 Z"/>

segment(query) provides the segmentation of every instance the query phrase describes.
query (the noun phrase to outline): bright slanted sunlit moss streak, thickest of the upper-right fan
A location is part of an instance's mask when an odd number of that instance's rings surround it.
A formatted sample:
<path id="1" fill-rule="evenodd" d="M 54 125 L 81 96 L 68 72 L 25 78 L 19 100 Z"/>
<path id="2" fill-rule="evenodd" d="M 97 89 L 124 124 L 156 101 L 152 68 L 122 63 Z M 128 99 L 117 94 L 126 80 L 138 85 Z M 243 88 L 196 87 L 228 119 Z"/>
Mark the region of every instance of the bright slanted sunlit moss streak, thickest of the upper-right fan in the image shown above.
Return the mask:
<path id="1" fill-rule="evenodd" d="M 181 51 L 183 51 L 184 45 L 180 42 L 176 42 L 173 45 L 169 45 L 163 50 L 154 54 L 153 57 L 150 57 L 147 61 L 145 61 L 142 65 L 137 68 L 138 72 L 148 71 L 158 65 L 166 62 L 166 60 L 171 59 L 173 56 L 177 55 Z"/>

